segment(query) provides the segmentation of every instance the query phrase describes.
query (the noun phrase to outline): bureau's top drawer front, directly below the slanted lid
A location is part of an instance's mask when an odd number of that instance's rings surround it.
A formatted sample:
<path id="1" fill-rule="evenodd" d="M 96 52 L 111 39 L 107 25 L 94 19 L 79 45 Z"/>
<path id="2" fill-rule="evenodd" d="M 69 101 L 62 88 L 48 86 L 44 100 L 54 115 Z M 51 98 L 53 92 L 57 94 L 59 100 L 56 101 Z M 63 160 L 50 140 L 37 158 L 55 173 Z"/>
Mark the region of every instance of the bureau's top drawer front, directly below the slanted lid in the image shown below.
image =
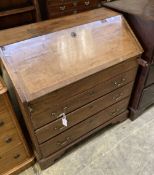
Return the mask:
<path id="1" fill-rule="evenodd" d="M 124 62 L 31 102 L 34 129 L 56 120 L 63 112 L 68 114 L 133 81 L 136 67 L 136 60 Z M 123 71 L 127 72 L 122 73 Z"/>

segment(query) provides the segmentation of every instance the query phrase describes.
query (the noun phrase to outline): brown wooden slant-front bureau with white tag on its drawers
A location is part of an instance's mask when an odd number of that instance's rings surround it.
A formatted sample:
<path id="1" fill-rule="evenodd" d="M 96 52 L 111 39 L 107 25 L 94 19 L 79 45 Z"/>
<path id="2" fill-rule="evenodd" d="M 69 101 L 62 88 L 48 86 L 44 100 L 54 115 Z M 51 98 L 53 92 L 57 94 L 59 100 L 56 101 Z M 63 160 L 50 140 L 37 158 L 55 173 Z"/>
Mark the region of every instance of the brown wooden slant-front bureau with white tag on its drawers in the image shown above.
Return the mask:
<path id="1" fill-rule="evenodd" d="M 3 77 L 12 81 L 42 169 L 127 118 L 142 48 L 122 15 L 104 11 L 102 20 L 95 10 L 95 21 L 1 49 Z"/>

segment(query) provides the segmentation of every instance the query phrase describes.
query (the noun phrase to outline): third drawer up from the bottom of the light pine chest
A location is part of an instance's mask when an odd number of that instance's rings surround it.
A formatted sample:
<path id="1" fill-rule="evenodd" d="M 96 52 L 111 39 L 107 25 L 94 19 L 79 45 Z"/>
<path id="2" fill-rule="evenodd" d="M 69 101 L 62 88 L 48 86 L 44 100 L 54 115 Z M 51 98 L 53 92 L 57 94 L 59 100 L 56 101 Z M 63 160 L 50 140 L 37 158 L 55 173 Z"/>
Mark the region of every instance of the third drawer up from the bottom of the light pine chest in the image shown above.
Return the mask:
<path id="1" fill-rule="evenodd" d="M 14 128 L 14 123 L 11 119 L 11 113 L 7 109 L 0 111 L 0 135 L 9 129 Z"/>

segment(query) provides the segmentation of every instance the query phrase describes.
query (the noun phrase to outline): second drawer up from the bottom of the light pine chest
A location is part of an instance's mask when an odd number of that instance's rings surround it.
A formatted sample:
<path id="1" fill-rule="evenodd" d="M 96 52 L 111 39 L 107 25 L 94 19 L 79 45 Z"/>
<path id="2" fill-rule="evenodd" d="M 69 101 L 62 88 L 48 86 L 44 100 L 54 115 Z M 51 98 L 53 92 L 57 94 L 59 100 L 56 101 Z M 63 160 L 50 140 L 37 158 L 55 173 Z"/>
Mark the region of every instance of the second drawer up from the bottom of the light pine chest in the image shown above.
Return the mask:
<path id="1" fill-rule="evenodd" d="M 0 133 L 0 152 L 8 152 L 16 145 L 20 144 L 20 138 L 15 129 L 10 129 L 5 133 Z"/>

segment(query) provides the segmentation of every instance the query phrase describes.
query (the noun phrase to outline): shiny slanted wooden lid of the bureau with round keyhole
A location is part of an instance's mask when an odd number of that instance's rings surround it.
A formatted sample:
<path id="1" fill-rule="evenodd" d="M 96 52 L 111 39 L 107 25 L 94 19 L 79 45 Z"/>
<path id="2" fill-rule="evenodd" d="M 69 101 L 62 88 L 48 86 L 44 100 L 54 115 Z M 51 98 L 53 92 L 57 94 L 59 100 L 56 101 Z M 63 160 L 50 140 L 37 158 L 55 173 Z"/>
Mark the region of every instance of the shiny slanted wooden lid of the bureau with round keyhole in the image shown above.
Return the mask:
<path id="1" fill-rule="evenodd" d="M 140 55 L 121 15 L 32 38 L 3 49 L 3 62 L 26 101 Z"/>

